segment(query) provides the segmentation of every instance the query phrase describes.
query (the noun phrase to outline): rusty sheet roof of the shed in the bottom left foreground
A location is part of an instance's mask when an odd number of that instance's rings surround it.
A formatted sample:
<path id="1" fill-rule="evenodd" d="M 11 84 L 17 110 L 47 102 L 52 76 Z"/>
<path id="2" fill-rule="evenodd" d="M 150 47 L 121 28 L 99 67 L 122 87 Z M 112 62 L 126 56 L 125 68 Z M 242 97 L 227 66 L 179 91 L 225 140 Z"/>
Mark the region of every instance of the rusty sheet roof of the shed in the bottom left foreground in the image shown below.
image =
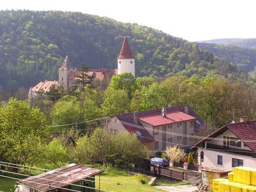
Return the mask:
<path id="1" fill-rule="evenodd" d="M 52 191 L 102 172 L 104 171 L 98 168 L 72 163 L 17 182 L 41 191 Z"/>

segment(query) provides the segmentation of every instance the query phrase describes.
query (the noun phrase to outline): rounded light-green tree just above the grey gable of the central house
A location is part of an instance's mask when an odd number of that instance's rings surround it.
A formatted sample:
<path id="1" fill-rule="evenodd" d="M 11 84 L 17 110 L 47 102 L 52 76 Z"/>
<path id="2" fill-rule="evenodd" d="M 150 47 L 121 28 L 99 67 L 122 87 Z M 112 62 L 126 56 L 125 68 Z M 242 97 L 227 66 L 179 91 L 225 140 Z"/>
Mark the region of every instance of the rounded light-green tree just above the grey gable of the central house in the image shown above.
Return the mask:
<path id="1" fill-rule="evenodd" d="M 129 109 L 129 98 L 127 93 L 124 90 L 107 88 L 102 104 L 104 115 L 115 116 L 124 113 L 126 109 Z"/>

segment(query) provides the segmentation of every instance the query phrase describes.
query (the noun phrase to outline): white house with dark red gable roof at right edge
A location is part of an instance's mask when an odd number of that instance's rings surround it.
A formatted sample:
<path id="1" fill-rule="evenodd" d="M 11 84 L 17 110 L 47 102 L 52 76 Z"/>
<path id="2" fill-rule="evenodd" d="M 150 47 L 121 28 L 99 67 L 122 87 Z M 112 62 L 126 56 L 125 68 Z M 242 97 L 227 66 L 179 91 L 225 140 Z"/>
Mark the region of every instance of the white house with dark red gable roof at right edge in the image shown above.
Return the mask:
<path id="1" fill-rule="evenodd" d="M 238 123 L 227 124 L 195 144 L 198 164 L 206 168 L 235 166 L 256 168 L 256 120 L 243 116 Z"/>

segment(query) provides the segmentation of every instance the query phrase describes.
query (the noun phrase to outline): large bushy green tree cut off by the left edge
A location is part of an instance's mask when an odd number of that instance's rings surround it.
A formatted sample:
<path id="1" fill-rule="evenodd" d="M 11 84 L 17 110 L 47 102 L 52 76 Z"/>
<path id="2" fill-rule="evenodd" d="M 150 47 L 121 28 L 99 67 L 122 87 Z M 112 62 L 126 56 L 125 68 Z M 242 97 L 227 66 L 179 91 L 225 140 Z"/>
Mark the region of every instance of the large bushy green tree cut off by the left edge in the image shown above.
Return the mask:
<path id="1" fill-rule="evenodd" d="M 10 99 L 0 110 L 0 153 L 7 161 L 33 166 L 40 159 L 49 127 L 44 114 L 28 102 Z"/>

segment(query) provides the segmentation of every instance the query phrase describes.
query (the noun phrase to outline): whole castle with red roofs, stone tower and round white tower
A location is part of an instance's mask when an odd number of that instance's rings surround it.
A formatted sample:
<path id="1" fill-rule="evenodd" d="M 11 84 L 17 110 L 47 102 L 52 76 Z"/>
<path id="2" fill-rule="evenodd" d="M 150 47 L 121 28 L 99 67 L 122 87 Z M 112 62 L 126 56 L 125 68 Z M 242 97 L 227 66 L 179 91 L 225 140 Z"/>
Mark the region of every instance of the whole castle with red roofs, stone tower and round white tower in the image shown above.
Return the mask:
<path id="1" fill-rule="evenodd" d="M 122 74 L 124 72 L 131 72 L 135 76 L 135 59 L 132 55 L 131 47 L 129 45 L 128 39 L 125 36 L 124 42 L 120 54 L 117 58 L 118 68 L 108 69 L 92 69 L 88 74 L 92 76 L 93 84 L 100 84 L 101 88 L 106 88 L 111 80 L 111 77 L 116 74 Z M 31 100 L 36 97 L 38 91 L 48 92 L 52 85 L 63 86 L 63 88 L 71 88 L 72 86 L 79 86 L 76 83 L 76 75 L 79 74 L 78 70 L 72 68 L 71 62 L 66 55 L 63 64 L 59 68 L 59 81 L 47 81 L 40 82 L 36 86 L 29 89 L 28 99 Z"/>

